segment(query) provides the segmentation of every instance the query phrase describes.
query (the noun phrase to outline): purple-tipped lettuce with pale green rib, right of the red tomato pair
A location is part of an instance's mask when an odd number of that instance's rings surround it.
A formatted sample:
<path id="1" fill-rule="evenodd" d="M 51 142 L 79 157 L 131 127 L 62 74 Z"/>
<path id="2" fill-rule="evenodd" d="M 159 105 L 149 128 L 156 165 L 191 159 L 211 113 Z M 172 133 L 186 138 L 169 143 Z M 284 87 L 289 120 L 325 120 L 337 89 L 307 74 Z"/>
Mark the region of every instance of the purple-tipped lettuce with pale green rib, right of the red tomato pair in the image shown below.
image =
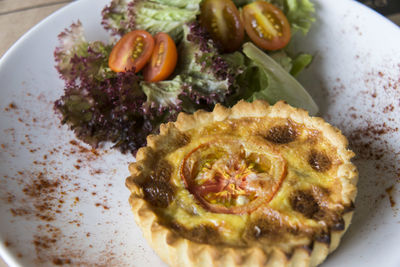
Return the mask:
<path id="1" fill-rule="evenodd" d="M 179 69 L 187 96 L 198 106 L 211 109 L 216 103 L 225 103 L 235 90 L 232 68 L 218 53 L 215 43 L 198 23 L 184 26 L 184 39 L 179 45 Z M 191 110 L 193 111 L 193 110 Z"/>

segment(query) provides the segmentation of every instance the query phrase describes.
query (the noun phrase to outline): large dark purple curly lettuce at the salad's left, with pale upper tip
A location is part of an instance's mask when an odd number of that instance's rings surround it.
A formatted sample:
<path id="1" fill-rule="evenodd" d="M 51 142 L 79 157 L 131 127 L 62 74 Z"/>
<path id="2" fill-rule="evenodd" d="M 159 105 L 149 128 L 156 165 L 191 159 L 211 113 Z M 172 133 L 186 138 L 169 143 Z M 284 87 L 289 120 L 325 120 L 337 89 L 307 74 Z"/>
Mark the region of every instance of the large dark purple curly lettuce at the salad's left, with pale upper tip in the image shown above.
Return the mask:
<path id="1" fill-rule="evenodd" d="M 134 72 L 115 73 L 107 66 L 111 46 L 87 42 L 80 22 L 59 35 L 54 56 L 66 81 L 56 110 L 76 136 L 97 147 L 111 142 L 122 152 L 135 153 L 158 122 L 143 110 L 146 95 Z"/>

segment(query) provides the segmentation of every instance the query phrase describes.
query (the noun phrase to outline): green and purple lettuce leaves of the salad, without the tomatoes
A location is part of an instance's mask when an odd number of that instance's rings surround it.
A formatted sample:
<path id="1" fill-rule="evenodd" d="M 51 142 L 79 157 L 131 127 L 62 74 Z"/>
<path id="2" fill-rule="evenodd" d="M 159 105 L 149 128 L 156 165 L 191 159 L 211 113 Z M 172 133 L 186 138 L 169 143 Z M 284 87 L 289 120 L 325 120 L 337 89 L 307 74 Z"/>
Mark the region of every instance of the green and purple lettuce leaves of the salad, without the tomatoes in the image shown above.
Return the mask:
<path id="1" fill-rule="evenodd" d="M 242 6 L 252 1 L 234 2 Z M 314 21 L 309 0 L 269 2 L 284 11 L 292 33 L 307 33 Z M 62 123 L 94 147 L 110 141 L 122 152 L 136 153 L 161 123 L 181 111 L 212 110 L 216 103 L 285 100 L 317 113 L 318 107 L 294 78 L 310 64 L 311 55 L 287 48 L 266 54 L 252 43 L 221 54 L 197 21 L 200 4 L 201 0 L 112 0 L 103 9 L 102 25 L 112 36 L 141 29 L 166 32 L 174 39 L 177 68 L 169 80 L 160 82 L 146 82 L 134 71 L 113 72 L 108 67 L 113 43 L 87 41 L 79 21 L 62 32 L 54 52 L 65 81 L 64 95 L 55 102 Z"/>

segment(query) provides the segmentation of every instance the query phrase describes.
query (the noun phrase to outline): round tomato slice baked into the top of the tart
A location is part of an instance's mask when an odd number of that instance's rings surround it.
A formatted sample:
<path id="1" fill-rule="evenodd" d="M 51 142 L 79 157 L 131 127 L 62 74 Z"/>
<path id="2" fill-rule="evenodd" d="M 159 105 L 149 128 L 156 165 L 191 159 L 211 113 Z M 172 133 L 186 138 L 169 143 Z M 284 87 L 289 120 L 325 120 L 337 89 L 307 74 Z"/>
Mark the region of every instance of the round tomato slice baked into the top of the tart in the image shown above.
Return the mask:
<path id="1" fill-rule="evenodd" d="M 188 153 L 181 178 L 206 209 L 244 214 L 271 201 L 286 172 L 286 161 L 272 148 L 252 151 L 241 142 L 225 139 Z"/>

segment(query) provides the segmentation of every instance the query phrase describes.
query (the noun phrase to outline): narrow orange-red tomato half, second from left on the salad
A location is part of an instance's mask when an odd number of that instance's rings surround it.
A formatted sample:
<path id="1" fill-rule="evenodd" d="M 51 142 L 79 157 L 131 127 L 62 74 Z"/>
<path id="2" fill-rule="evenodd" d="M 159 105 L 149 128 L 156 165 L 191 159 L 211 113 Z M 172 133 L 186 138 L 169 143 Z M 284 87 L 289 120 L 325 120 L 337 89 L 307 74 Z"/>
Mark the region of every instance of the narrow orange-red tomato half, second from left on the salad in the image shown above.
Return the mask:
<path id="1" fill-rule="evenodd" d="M 155 47 L 150 62 L 143 70 L 144 79 L 148 82 L 165 80 L 174 71 L 178 59 L 176 45 L 172 38 L 163 32 L 154 36 Z"/>

